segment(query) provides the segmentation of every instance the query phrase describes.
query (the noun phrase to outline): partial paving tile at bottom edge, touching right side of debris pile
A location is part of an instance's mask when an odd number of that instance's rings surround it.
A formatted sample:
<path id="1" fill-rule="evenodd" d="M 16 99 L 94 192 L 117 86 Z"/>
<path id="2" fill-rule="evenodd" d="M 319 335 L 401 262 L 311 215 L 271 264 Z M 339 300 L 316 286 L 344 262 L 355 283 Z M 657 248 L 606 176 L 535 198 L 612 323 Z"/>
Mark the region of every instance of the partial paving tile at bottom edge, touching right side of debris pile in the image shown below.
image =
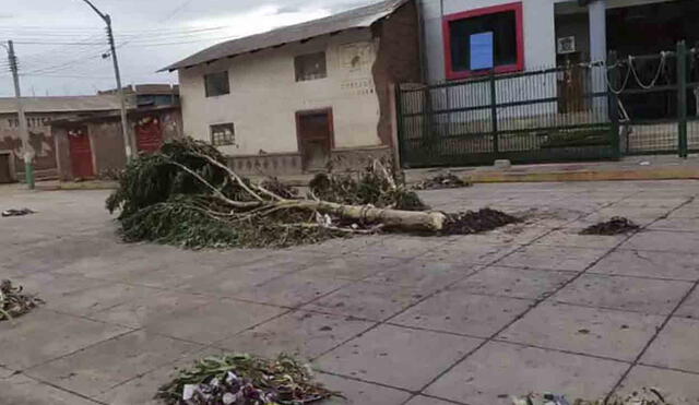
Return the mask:
<path id="1" fill-rule="evenodd" d="M 322 405 L 401 405 L 410 397 L 405 391 L 342 377 L 318 373 L 316 378 L 330 390 L 341 392 L 345 396 L 323 401 Z"/>

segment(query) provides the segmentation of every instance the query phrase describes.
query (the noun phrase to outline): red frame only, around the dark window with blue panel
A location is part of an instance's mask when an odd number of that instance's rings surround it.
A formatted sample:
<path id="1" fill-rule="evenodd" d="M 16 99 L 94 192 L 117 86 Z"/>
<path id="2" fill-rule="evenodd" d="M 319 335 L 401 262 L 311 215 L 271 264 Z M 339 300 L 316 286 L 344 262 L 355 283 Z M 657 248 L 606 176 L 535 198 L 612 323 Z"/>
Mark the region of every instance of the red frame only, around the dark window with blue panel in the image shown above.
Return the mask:
<path id="1" fill-rule="evenodd" d="M 460 13 L 445 15 L 442 19 L 442 35 L 445 43 L 445 70 L 447 80 L 460 80 L 473 76 L 481 76 L 490 73 L 490 70 L 453 70 L 453 60 L 451 57 L 451 23 L 454 21 L 467 20 L 477 16 L 498 14 L 508 11 L 514 12 L 514 32 L 517 33 L 517 63 L 503 64 L 495 67 L 496 74 L 499 73 L 513 73 L 524 70 L 524 24 L 523 24 L 523 10 L 522 3 L 507 3 L 493 7 L 486 7 L 482 9 L 469 10 Z"/>

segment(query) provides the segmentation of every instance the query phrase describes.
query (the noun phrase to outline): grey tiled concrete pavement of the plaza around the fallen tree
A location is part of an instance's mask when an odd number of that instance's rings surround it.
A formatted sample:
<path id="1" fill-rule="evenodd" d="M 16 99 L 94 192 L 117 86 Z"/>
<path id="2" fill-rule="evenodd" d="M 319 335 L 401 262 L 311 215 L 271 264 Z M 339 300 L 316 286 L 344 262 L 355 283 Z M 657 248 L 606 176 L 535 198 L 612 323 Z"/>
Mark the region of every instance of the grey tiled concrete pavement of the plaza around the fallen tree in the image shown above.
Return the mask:
<path id="1" fill-rule="evenodd" d="M 0 278 L 46 306 L 0 323 L 0 404 L 150 404 L 177 366 L 296 353 L 347 400 L 508 404 L 643 385 L 699 403 L 699 182 L 476 184 L 423 193 L 525 224 L 281 251 L 125 245 L 105 191 L 0 188 Z M 644 226 L 579 236 L 614 215 Z M 682 402 L 684 398 L 685 402 Z"/>

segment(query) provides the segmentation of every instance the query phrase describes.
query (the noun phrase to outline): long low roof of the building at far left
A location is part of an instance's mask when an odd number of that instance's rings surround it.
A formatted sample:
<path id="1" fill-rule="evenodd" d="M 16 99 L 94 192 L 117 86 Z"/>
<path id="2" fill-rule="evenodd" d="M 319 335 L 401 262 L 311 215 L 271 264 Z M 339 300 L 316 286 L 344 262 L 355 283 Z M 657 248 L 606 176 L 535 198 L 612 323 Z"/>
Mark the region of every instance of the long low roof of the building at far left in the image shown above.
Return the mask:
<path id="1" fill-rule="evenodd" d="M 107 111 L 120 108 L 119 97 L 64 96 L 64 97 L 22 97 L 26 112 L 78 112 Z M 0 114 L 15 114 L 17 105 L 14 97 L 0 97 Z"/>

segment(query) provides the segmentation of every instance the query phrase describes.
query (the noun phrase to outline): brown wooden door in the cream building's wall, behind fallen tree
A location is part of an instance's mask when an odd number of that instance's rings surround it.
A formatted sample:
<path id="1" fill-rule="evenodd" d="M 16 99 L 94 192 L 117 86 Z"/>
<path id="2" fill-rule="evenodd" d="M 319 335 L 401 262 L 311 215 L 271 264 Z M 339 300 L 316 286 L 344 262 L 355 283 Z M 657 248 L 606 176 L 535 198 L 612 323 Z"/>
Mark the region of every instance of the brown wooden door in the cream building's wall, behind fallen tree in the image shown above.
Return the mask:
<path id="1" fill-rule="evenodd" d="M 333 147 L 332 110 L 297 112 L 296 130 L 304 170 L 324 169 Z"/>

